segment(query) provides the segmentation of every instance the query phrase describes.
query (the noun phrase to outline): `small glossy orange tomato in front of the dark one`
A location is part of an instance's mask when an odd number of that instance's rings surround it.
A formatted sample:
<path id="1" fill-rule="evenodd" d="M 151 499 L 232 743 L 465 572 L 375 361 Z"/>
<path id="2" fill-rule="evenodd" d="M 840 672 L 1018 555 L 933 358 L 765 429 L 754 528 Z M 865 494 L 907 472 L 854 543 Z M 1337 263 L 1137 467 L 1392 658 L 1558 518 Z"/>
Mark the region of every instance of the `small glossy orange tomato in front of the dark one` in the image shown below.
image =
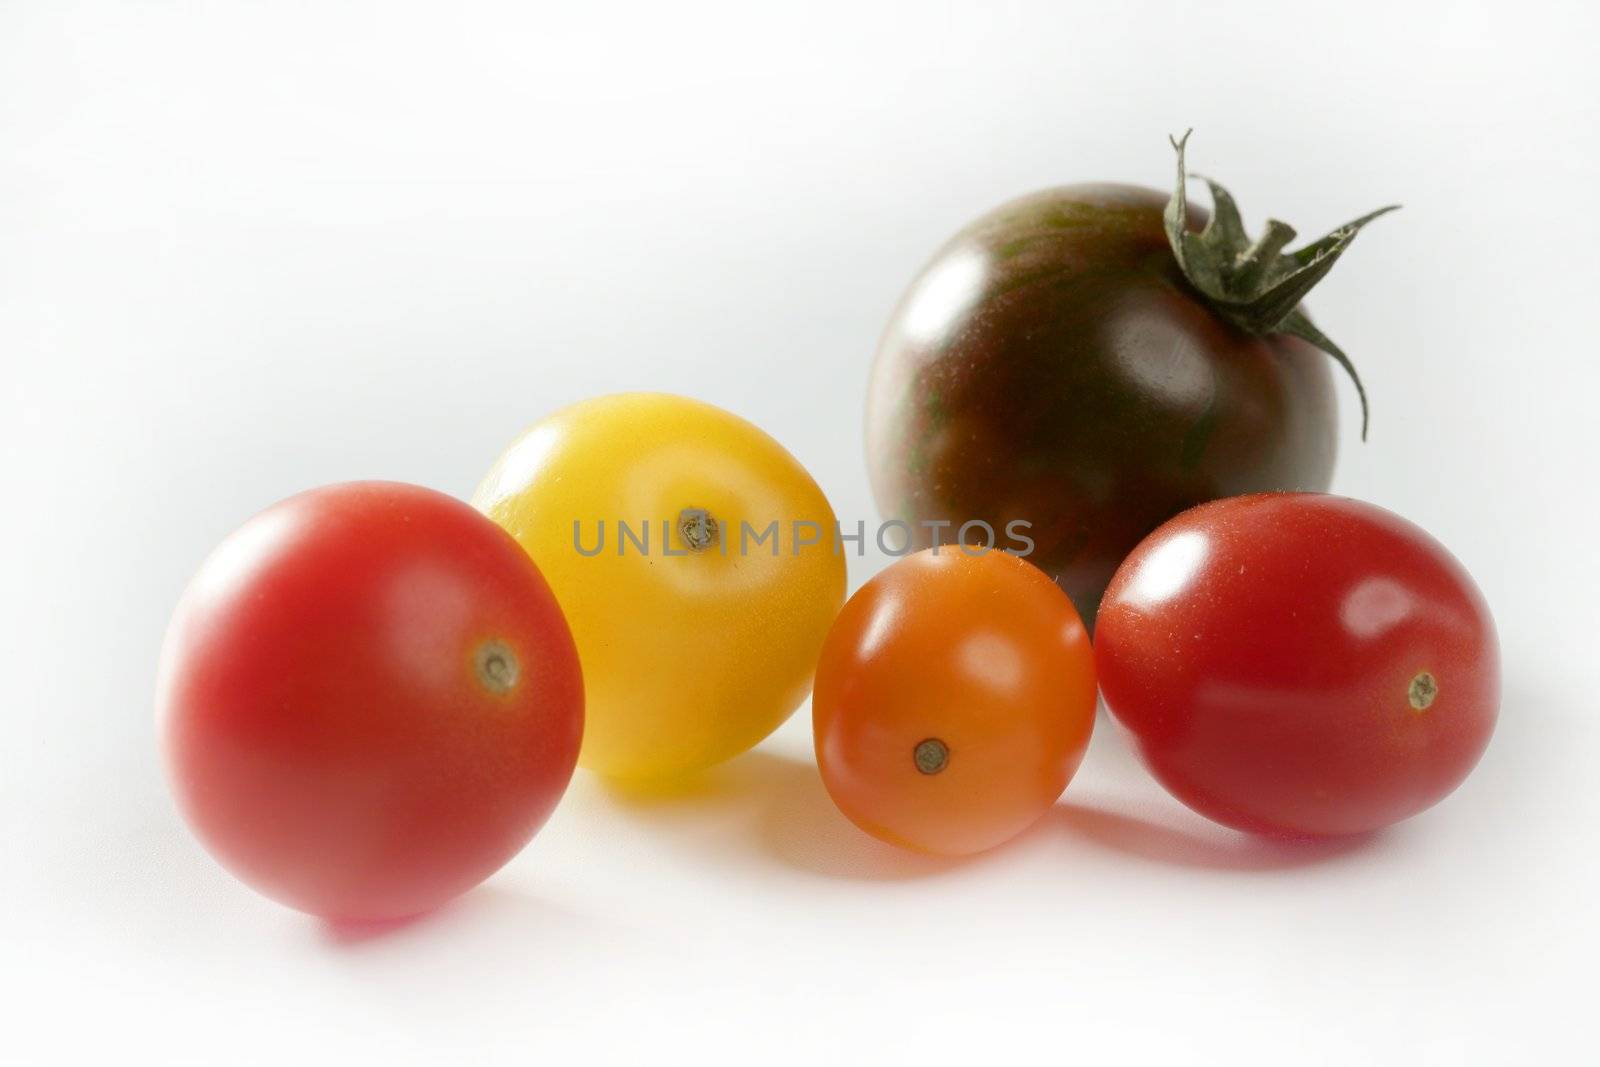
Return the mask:
<path id="1" fill-rule="evenodd" d="M 1072 601 L 1005 552 L 899 560 L 838 614 L 811 699 L 816 758 L 851 822 L 960 856 L 1061 795 L 1094 726 L 1094 661 Z"/>

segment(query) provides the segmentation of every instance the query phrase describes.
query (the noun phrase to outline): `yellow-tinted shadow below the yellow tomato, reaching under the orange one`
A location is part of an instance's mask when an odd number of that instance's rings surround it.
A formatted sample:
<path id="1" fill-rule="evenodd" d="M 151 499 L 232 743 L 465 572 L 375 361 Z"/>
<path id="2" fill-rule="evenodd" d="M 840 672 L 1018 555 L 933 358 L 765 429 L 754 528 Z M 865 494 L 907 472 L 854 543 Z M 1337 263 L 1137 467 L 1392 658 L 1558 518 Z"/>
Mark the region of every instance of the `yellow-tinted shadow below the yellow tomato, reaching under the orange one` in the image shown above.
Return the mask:
<path id="1" fill-rule="evenodd" d="M 605 782 L 624 811 L 718 854 L 762 856 L 842 880 L 893 881 L 944 873 L 962 861 L 886 845 L 850 822 L 810 761 L 747 752 L 672 782 Z"/>

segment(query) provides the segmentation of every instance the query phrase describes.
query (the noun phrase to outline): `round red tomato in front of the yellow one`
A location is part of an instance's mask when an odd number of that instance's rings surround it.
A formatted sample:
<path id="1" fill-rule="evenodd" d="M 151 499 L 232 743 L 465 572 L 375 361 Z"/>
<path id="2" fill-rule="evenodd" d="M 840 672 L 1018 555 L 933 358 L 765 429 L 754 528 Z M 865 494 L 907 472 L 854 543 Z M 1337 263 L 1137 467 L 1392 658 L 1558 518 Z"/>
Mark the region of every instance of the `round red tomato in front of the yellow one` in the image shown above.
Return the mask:
<path id="1" fill-rule="evenodd" d="M 336 920 L 486 878 L 544 824 L 582 736 L 578 653 L 526 553 L 459 501 L 378 482 L 293 496 L 211 553 L 157 707 L 202 843 Z"/>

